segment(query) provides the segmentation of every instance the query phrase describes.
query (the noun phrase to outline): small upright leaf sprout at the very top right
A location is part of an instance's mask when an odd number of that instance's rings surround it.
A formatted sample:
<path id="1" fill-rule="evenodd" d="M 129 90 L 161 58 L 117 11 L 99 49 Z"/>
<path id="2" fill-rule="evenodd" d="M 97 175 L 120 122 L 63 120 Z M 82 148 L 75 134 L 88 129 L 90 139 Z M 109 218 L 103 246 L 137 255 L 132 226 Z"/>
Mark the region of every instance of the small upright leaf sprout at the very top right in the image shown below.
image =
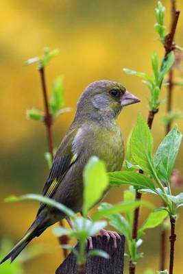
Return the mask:
<path id="1" fill-rule="evenodd" d="M 156 23 L 154 25 L 154 28 L 156 29 L 156 32 L 158 32 L 159 36 L 160 36 L 160 41 L 162 42 L 162 44 L 164 44 L 164 12 L 165 12 L 165 8 L 162 5 L 162 3 L 160 1 L 158 1 L 156 9 L 155 9 L 155 13 L 156 13 Z"/>

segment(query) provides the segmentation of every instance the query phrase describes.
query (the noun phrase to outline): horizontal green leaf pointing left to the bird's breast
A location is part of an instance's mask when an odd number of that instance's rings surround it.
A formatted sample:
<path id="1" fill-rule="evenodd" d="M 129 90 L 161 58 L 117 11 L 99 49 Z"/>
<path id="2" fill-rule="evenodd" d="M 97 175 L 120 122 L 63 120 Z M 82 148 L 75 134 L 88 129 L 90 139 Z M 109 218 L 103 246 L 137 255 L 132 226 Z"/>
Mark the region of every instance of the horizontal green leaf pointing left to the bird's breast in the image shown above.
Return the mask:
<path id="1" fill-rule="evenodd" d="M 111 186 L 129 184 L 136 188 L 155 189 L 154 182 L 147 176 L 134 171 L 115 171 L 108 173 Z"/>

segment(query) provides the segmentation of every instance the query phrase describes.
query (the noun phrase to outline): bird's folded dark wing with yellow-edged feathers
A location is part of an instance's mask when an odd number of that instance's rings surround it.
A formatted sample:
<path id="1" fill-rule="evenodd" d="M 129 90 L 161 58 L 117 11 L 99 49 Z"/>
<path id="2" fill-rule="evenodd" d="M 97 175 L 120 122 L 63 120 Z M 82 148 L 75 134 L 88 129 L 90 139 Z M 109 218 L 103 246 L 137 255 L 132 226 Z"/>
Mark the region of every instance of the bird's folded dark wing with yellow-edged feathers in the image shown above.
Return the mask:
<path id="1" fill-rule="evenodd" d="M 78 128 L 70 130 L 68 134 L 66 134 L 64 140 L 62 140 L 53 160 L 53 165 L 51 166 L 45 186 L 42 190 L 43 196 L 49 198 L 53 196 L 53 193 L 58 188 L 58 185 L 62 182 L 64 175 L 69 170 L 71 165 L 77 160 L 78 155 L 76 152 L 73 152 L 73 141 L 78 130 Z M 45 204 L 41 203 L 38 214 L 40 214 L 40 211 L 43 208 L 45 208 Z"/>

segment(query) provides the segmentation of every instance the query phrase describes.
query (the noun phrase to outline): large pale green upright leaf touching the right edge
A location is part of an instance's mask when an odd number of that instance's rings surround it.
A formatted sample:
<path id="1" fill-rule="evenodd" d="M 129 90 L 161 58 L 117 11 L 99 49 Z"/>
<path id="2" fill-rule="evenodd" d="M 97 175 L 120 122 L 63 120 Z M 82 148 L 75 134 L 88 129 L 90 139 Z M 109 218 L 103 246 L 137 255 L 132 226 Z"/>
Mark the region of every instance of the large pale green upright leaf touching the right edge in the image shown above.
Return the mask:
<path id="1" fill-rule="evenodd" d="M 162 140 L 156 151 L 154 158 L 156 172 L 158 173 L 158 177 L 166 184 L 169 184 L 181 140 L 182 134 L 178 131 L 178 127 L 175 126 L 171 129 L 171 132 L 164 137 L 164 140 Z"/>

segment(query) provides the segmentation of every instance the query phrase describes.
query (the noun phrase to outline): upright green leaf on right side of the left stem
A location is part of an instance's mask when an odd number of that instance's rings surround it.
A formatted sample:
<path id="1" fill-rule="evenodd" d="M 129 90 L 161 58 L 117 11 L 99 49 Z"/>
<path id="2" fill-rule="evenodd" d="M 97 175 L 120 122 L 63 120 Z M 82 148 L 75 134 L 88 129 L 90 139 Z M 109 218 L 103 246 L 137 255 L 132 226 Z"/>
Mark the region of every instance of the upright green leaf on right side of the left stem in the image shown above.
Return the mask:
<path id="1" fill-rule="evenodd" d="M 49 108 L 53 116 L 57 116 L 58 111 L 64 105 L 64 86 L 63 77 L 58 77 L 56 82 L 53 84 L 53 91 L 51 94 L 51 100 L 49 103 Z"/>

